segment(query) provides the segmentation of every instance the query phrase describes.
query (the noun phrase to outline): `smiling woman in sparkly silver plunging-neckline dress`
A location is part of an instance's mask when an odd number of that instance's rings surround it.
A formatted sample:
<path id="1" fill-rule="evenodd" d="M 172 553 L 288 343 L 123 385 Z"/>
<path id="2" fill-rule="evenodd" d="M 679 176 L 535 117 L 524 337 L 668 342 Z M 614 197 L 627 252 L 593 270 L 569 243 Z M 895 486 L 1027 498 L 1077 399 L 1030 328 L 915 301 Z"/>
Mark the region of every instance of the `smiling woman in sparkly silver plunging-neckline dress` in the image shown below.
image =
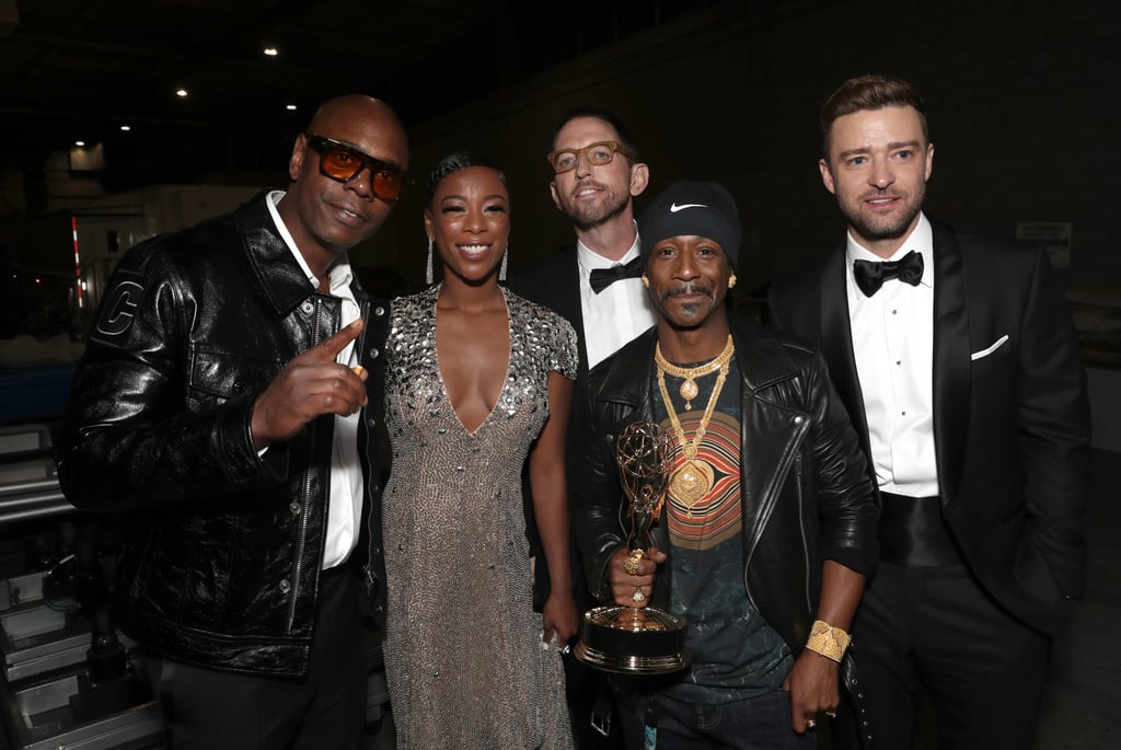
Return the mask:
<path id="1" fill-rule="evenodd" d="M 578 620 L 571 582 L 557 578 L 571 570 L 564 433 L 576 335 L 499 285 L 510 234 L 502 173 L 467 154 L 443 159 L 424 225 L 444 279 L 393 300 L 386 362 L 385 654 L 397 747 L 571 748 L 557 649 Z M 540 614 L 527 455 L 554 572 Z"/>

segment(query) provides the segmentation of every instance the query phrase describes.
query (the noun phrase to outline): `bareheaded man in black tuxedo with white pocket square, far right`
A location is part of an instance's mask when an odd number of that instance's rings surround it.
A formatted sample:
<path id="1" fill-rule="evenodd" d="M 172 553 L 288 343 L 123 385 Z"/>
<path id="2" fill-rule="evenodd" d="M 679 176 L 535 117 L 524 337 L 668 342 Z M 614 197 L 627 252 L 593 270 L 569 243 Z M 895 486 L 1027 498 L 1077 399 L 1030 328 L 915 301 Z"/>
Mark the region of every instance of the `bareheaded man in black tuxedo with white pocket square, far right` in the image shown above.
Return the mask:
<path id="1" fill-rule="evenodd" d="M 771 285 L 772 323 L 821 342 L 880 489 L 880 565 L 852 627 L 868 716 L 835 747 L 1031 748 L 1050 643 L 1081 599 L 1090 413 L 1047 256 L 923 211 L 934 146 L 906 82 L 822 109 L 822 180 L 849 224 Z M 868 723 L 864 723 L 868 720 Z"/>

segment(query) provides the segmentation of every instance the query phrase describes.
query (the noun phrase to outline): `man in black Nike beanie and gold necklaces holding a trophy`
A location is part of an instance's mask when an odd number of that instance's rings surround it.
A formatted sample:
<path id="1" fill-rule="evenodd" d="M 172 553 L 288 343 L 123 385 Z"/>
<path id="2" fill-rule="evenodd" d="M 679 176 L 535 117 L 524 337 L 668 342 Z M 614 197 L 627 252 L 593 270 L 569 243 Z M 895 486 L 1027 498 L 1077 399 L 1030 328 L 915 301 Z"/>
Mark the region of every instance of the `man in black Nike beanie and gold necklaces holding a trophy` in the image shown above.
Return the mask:
<path id="1" fill-rule="evenodd" d="M 845 631 L 877 558 L 856 435 L 815 349 L 724 305 L 742 241 L 724 187 L 674 183 L 639 233 L 657 323 L 587 376 L 572 528 L 601 602 L 685 618 L 689 665 L 614 678 L 624 739 L 815 748 L 807 730 L 840 703 Z M 620 522 L 615 436 L 634 422 L 671 441 L 645 555 Z"/>

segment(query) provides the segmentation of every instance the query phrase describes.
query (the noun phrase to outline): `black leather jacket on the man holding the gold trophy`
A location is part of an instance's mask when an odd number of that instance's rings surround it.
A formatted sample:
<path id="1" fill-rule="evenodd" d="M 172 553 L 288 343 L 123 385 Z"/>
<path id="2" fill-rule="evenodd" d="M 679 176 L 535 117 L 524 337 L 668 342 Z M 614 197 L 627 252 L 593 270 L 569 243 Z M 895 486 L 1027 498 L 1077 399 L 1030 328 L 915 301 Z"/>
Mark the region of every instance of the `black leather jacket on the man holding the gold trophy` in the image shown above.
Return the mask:
<path id="1" fill-rule="evenodd" d="M 872 572 L 879 508 L 856 434 L 817 352 L 734 316 L 731 323 L 742 378 L 743 582 L 756 609 L 798 655 L 817 611 L 822 562 Z M 589 373 L 576 420 L 585 448 L 573 479 L 572 527 L 593 593 L 604 602 L 611 601 L 606 565 L 626 543 L 615 436 L 632 422 L 654 420 L 656 337 L 651 328 Z M 655 526 L 654 541 L 669 552 L 664 524 Z M 651 604 L 667 605 L 667 576 L 663 565 Z"/>

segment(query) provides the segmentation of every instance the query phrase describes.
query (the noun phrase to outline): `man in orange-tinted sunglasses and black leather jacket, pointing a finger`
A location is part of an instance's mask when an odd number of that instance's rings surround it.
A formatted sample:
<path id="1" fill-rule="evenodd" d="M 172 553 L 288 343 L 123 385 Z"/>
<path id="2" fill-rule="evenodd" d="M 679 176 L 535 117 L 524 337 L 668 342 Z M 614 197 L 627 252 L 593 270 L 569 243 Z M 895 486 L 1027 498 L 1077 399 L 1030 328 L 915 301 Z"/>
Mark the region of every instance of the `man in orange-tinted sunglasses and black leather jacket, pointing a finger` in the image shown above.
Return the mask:
<path id="1" fill-rule="evenodd" d="M 132 248 L 110 283 L 58 475 L 123 511 L 117 624 L 177 750 L 362 747 L 388 304 L 348 250 L 408 159 L 385 102 L 327 101 L 286 192 Z"/>

